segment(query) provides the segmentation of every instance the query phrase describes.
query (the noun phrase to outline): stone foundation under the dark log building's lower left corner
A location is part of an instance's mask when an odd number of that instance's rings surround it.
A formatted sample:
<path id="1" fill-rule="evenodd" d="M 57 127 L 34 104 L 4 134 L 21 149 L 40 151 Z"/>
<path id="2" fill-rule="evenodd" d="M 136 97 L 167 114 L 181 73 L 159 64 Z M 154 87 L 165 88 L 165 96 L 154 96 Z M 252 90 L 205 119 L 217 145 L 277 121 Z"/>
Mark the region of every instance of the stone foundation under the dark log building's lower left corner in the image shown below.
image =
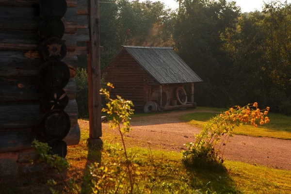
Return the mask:
<path id="1" fill-rule="evenodd" d="M 33 163 L 38 159 L 33 149 L 19 152 L 0 153 L 0 176 L 17 176 L 31 172 L 39 172 L 44 169 L 44 164 Z"/>

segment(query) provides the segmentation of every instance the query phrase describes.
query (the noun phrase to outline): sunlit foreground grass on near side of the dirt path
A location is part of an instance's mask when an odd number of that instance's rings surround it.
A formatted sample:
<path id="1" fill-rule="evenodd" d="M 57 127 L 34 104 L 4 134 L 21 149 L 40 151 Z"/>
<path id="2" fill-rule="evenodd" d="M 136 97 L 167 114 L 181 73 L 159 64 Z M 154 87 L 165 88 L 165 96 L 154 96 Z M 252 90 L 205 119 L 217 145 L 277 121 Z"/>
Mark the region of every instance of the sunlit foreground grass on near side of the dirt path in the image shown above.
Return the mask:
<path id="1" fill-rule="evenodd" d="M 200 116 L 205 122 L 206 116 Z M 207 119 L 206 119 L 207 120 Z M 103 135 L 104 150 L 90 150 L 86 140 L 89 136 L 88 122 L 79 120 L 81 128 L 81 142 L 78 146 L 68 147 L 67 160 L 71 164 L 68 175 L 81 177 L 87 162 L 100 161 L 101 164 L 110 162 L 107 150 L 111 146 L 119 147 L 112 143 L 116 135 L 105 132 Z M 109 134 L 108 134 L 109 133 Z M 130 133 L 129 133 L 130 134 Z M 110 143 L 108 143 L 108 140 Z M 134 143 L 132 143 L 134 144 Z M 136 143 L 134 144 L 136 145 Z M 140 147 L 128 149 L 129 155 L 135 157 L 135 163 L 140 166 L 144 176 L 150 175 L 154 180 L 153 194 L 170 193 L 205 193 L 206 191 L 217 194 L 226 193 L 255 193 L 255 194 L 287 194 L 291 193 L 291 171 L 270 169 L 259 165 L 250 165 L 243 162 L 226 161 L 227 172 L 212 172 L 192 167 L 185 167 L 181 162 L 181 153 L 170 151 L 149 150 Z M 140 180 L 139 187 L 143 188 L 148 180 Z"/>

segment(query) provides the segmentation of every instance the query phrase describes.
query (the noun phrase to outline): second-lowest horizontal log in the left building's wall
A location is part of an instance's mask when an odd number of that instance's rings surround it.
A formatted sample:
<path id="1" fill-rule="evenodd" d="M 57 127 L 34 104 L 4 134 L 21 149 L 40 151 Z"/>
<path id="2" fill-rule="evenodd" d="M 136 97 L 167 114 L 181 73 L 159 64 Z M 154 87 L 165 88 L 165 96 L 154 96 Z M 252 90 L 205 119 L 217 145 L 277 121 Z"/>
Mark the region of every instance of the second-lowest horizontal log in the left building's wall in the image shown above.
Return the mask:
<path id="1" fill-rule="evenodd" d="M 65 112 L 70 116 L 71 127 L 78 122 L 76 100 L 69 100 Z M 0 105 L 0 129 L 24 129 L 37 127 L 46 113 L 40 111 L 39 103 L 11 103 Z"/>

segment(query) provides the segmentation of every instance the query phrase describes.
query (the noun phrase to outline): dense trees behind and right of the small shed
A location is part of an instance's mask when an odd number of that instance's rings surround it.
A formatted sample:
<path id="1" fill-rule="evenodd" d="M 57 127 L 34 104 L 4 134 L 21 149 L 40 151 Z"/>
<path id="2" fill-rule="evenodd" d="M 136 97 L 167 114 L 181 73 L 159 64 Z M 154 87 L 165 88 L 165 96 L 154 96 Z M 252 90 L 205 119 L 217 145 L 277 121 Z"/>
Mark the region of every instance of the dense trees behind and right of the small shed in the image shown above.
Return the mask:
<path id="1" fill-rule="evenodd" d="M 120 45 L 172 46 L 202 78 L 198 106 L 227 107 L 259 101 L 291 114 L 291 4 L 270 2 L 262 12 L 241 13 L 234 1 L 100 3 L 101 68 Z"/>

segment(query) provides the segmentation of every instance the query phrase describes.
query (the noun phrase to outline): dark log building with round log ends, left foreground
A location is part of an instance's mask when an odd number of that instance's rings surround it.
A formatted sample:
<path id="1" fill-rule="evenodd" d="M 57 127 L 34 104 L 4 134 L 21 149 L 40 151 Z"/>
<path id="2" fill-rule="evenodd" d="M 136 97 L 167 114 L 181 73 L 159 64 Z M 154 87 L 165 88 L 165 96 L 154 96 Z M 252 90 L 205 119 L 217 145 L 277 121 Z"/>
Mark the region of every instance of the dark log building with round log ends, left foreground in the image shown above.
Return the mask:
<path id="1" fill-rule="evenodd" d="M 63 157 L 79 144 L 74 77 L 88 13 L 87 0 L 0 0 L 0 175 L 33 171 L 34 139 Z"/>

